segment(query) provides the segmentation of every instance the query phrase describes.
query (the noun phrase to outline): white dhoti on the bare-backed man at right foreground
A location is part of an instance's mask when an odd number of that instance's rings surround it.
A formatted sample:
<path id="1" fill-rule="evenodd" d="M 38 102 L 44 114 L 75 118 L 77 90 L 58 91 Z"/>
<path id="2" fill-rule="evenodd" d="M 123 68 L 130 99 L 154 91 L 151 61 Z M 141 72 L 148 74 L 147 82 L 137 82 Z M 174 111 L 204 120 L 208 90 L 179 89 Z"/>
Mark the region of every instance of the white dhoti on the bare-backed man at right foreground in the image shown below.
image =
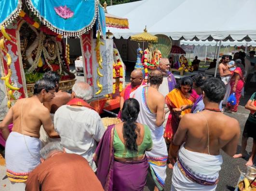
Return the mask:
<path id="1" fill-rule="evenodd" d="M 215 191 L 222 164 L 221 155 L 208 155 L 185 149 L 178 153 L 171 191 Z"/>

